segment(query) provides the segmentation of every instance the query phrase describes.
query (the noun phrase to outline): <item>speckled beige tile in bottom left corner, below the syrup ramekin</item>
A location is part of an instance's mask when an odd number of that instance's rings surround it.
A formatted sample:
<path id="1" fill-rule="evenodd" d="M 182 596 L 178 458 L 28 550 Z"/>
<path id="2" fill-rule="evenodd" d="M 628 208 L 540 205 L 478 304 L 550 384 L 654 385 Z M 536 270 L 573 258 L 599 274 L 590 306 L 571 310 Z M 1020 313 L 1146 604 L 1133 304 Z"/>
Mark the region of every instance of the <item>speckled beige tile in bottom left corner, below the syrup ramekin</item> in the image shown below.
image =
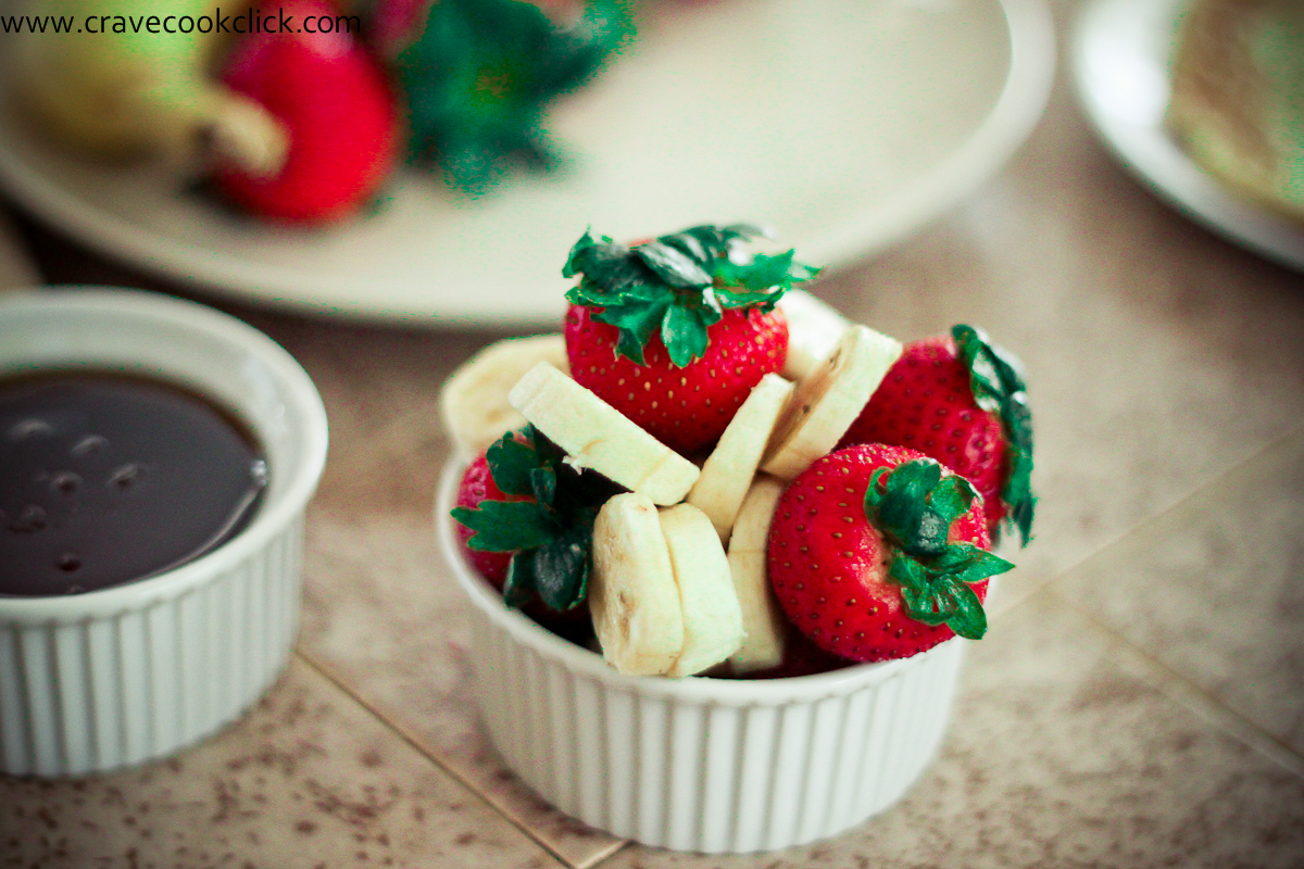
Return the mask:
<path id="1" fill-rule="evenodd" d="M 559 864 L 300 661 L 179 757 L 0 778 L 0 866 L 549 869 Z"/>

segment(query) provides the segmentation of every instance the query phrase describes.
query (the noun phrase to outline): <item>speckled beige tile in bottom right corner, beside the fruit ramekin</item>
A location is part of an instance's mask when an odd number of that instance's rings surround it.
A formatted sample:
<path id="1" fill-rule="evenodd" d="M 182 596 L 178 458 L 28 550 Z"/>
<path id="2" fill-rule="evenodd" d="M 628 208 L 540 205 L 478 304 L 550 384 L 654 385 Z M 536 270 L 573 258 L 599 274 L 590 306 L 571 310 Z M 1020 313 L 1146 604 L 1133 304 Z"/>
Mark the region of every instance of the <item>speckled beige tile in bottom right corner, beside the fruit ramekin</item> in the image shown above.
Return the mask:
<path id="1" fill-rule="evenodd" d="M 939 758 L 865 826 L 760 857 L 630 846 L 604 869 L 1300 865 L 1304 776 L 1171 700 L 1046 593 L 970 651 Z"/>

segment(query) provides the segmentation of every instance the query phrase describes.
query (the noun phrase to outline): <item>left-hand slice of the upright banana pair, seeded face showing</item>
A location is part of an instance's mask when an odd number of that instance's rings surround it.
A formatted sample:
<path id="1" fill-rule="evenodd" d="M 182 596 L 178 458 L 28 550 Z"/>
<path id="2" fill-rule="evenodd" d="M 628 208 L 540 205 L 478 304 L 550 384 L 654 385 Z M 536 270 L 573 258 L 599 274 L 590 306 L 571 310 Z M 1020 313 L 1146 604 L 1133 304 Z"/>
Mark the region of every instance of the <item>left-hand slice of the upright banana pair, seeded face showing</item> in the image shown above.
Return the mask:
<path id="1" fill-rule="evenodd" d="M 685 636 L 679 586 L 647 495 L 617 495 L 597 513 L 588 608 L 602 657 L 617 671 L 651 676 L 674 666 Z"/>

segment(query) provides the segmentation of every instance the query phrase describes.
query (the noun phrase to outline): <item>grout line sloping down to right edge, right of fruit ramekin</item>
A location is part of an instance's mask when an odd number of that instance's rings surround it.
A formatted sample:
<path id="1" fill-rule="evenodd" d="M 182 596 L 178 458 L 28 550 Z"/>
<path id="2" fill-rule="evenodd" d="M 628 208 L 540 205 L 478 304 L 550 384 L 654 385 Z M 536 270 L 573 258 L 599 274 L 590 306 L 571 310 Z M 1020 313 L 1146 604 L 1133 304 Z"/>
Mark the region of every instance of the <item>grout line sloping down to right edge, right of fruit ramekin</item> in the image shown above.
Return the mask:
<path id="1" fill-rule="evenodd" d="M 1118 651 L 1121 650 L 1132 659 L 1133 663 L 1146 670 L 1153 687 L 1166 694 L 1170 700 L 1185 706 L 1188 710 L 1204 718 L 1219 731 L 1239 740 L 1240 743 L 1244 743 L 1267 760 L 1284 766 L 1296 775 L 1304 776 L 1304 753 L 1299 749 L 1267 732 L 1262 728 L 1262 726 L 1218 700 L 1218 697 L 1191 681 L 1187 676 L 1178 672 L 1159 658 L 1155 658 L 1146 649 L 1136 645 L 1114 627 L 1101 620 L 1090 611 L 1084 610 L 1055 589 L 1043 588 L 1039 589 L 1038 594 L 1041 593 L 1045 593 L 1046 597 L 1051 598 L 1055 603 L 1067 607 L 1069 611 L 1084 619 L 1094 631 L 1103 634 L 1108 641 L 1111 654 L 1116 655 Z M 1022 606 L 1026 602 L 1026 599 L 1020 601 L 1018 606 Z"/>

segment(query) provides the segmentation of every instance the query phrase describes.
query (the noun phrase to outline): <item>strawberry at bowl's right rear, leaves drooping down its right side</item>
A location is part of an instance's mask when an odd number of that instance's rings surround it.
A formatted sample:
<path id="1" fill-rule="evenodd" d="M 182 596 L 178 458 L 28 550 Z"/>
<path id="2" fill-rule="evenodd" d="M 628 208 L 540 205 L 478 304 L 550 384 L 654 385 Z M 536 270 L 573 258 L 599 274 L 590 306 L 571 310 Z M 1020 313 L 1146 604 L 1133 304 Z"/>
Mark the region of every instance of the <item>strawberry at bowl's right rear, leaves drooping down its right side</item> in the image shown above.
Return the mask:
<path id="1" fill-rule="evenodd" d="M 1001 520 L 1031 537 L 1033 421 L 1021 365 L 970 326 L 906 344 L 840 447 L 918 449 L 965 477 L 983 498 L 987 532 Z"/>

